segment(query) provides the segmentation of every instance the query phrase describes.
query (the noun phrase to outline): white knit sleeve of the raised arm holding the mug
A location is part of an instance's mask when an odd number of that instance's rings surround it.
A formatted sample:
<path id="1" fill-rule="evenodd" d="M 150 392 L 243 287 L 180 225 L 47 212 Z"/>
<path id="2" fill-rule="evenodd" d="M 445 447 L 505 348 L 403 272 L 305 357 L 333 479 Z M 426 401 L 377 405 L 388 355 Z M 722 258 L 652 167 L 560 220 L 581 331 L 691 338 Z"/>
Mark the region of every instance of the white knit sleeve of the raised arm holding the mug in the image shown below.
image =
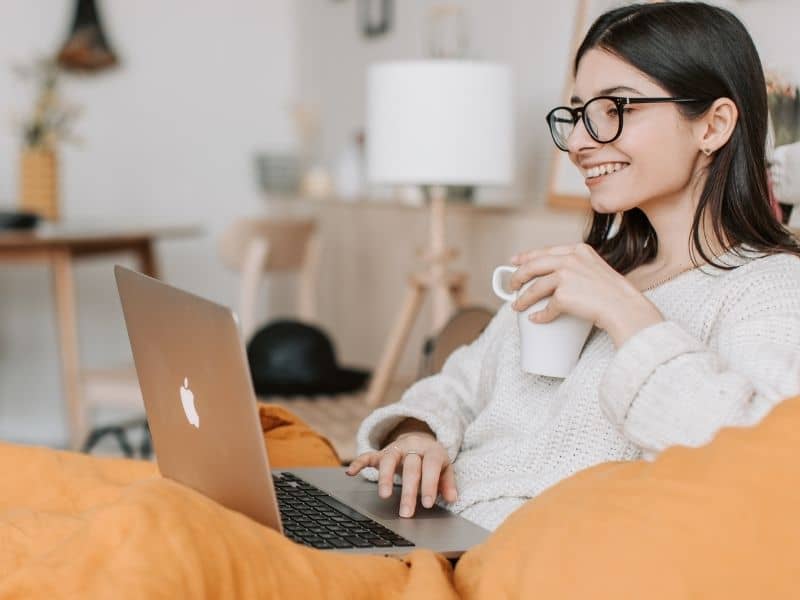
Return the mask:
<path id="1" fill-rule="evenodd" d="M 646 456 L 700 446 L 725 426 L 755 424 L 800 393 L 800 261 L 784 258 L 734 286 L 708 344 L 664 321 L 619 348 L 600 402 Z"/>

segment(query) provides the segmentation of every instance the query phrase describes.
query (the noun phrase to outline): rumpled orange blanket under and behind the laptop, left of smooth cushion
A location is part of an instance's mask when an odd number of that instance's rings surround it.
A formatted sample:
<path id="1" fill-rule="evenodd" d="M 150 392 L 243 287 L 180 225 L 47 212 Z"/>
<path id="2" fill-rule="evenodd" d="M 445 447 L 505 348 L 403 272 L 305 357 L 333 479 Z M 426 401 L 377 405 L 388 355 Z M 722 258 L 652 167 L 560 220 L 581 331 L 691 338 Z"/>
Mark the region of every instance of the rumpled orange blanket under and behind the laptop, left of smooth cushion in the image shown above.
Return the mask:
<path id="1" fill-rule="evenodd" d="M 275 466 L 338 464 L 289 413 L 260 416 Z M 0 473 L 0 598 L 455 597 L 449 563 L 432 552 L 305 548 L 151 463 L 0 444 Z"/>

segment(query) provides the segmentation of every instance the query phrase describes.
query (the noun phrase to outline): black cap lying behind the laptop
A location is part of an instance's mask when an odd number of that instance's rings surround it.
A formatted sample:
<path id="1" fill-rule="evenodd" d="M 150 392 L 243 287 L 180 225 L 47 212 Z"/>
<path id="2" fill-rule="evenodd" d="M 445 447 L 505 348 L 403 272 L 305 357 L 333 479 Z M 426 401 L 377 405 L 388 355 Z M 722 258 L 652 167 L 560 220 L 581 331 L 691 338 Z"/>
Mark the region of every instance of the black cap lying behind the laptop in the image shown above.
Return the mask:
<path id="1" fill-rule="evenodd" d="M 259 396 L 353 392 L 370 375 L 340 367 L 330 337 L 320 328 L 288 319 L 256 332 L 247 345 L 247 361 Z"/>

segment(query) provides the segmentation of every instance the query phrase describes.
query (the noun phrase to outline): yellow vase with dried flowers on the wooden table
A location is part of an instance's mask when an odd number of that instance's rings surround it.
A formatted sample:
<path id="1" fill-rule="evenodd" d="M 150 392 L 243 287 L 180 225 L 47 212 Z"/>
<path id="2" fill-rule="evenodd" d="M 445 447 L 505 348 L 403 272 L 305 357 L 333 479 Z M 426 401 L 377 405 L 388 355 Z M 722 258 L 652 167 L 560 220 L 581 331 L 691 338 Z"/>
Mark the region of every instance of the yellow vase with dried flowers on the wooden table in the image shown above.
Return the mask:
<path id="1" fill-rule="evenodd" d="M 20 210 L 58 221 L 58 160 L 54 150 L 26 148 L 20 157 Z"/>

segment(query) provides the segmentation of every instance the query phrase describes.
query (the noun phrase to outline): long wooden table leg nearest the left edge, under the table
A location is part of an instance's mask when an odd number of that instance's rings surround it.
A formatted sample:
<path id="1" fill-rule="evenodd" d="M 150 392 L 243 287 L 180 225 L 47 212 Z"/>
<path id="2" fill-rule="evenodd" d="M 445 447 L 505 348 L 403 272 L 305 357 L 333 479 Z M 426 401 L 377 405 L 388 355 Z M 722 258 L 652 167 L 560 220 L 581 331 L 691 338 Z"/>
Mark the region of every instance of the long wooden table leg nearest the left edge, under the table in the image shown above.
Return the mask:
<path id="1" fill-rule="evenodd" d="M 58 323 L 61 355 L 61 381 L 67 403 L 69 444 L 78 450 L 83 442 L 86 421 L 81 403 L 78 359 L 78 318 L 75 307 L 75 280 L 72 272 L 72 255 L 69 250 L 56 250 L 51 254 L 53 287 Z"/>

